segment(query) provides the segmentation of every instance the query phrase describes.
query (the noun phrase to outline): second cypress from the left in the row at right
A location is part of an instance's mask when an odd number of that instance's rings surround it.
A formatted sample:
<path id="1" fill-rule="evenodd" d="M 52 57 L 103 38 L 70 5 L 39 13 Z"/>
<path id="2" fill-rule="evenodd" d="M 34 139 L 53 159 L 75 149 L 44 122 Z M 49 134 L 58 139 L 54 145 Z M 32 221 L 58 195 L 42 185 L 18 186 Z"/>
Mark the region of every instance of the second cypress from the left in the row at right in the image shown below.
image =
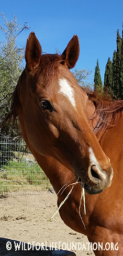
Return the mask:
<path id="1" fill-rule="evenodd" d="M 104 75 L 104 93 L 111 93 L 111 86 L 113 83 L 113 63 L 108 58 L 105 75 Z"/>

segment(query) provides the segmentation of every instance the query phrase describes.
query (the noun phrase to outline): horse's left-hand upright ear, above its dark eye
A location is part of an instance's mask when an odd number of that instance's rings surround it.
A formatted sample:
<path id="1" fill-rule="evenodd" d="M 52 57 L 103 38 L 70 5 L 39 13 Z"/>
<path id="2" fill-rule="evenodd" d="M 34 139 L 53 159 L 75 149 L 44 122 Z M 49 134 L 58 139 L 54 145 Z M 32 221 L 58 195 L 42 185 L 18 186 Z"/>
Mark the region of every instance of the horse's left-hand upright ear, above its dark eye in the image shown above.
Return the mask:
<path id="1" fill-rule="evenodd" d="M 25 59 L 28 69 L 36 69 L 40 63 L 41 46 L 35 36 L 34 32 L 31 32 L 26 44 Z"/>

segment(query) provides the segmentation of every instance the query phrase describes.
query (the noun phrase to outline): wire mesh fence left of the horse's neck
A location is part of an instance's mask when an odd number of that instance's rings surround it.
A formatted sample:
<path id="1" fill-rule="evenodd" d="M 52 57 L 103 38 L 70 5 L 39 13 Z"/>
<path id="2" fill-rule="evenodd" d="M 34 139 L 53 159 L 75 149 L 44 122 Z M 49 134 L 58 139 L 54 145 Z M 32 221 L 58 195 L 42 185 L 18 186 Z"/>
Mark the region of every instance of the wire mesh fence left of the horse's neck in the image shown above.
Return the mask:
<path id="1" fill-rule="evenodd" d="M 52 186 L 22 138 L 0 137 L 0 196 L 38 194 Z M 23 154 L 24 153 L 24 154 Z"/>

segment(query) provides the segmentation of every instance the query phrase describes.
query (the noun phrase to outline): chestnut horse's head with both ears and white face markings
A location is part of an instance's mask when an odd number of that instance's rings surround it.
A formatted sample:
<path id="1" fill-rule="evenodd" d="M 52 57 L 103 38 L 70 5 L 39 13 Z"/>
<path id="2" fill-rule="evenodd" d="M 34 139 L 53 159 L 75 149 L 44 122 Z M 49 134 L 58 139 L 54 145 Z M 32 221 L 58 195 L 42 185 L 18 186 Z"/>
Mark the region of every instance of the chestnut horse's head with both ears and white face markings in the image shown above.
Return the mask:
<path id="1" fill-rule="evenodd" d="M 31 32 L 15 90 L 16 111 L 29 149 L 57 159 L 96 194 L 110 186 L 113 169 L 88 124 L 87 94 L 70 72 L 79 51 L 74 36 L 61 55 L 41 54 Z"/>

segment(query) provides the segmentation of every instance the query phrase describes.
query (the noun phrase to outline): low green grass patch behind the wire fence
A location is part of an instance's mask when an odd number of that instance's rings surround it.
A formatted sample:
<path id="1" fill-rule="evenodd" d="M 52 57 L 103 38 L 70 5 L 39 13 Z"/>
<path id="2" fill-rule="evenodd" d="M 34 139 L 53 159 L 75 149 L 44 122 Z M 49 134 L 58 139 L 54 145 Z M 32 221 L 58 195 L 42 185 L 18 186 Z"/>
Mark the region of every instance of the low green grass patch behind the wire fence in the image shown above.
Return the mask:
<path id="1" fill-rule="evenodd" d="M 29 185 L 33 185 L 33 188 Z M 0 186 L 0 196 L 6 191 L 35 190 L 51 187 L 40 166 L 36 162 L 27 162 L 25 159 L 21 162 L 17 162 L 16 159 L 9 161 L 8 164 L 2 167 Z"/>

